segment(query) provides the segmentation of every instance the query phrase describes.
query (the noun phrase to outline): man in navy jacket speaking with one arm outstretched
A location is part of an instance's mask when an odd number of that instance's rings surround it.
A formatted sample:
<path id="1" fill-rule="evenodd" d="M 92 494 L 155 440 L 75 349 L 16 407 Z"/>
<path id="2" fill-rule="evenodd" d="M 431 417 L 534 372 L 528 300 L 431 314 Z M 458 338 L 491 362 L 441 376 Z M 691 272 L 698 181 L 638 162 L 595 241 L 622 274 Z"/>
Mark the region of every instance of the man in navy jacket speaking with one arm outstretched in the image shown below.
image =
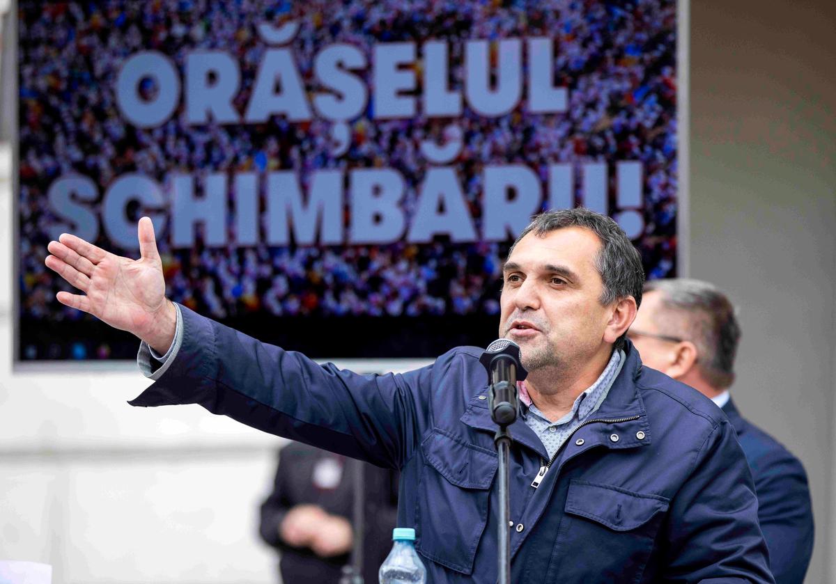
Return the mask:
<path id="1" fill-rule="evenodd" d="M 497 427 L 480 349 L 402 375 L 321 366 L 168 301 L 149 219 L 139 236 L 137 261 L 69 235 L 46 259 L 84 292 L 60 302 L 142 340 L 155 383 L 132 404 L 201 404 L 399 469 L 398 525 L 415 528 L 428 581 L 497 581 Z M 511 426 L 512 581 L 773 582 L 731 424 L 643 368 L 625 338 L 644 273 L 619 226 L 544 213 L 503 277 L 499 334 L 528 369 Z"/>

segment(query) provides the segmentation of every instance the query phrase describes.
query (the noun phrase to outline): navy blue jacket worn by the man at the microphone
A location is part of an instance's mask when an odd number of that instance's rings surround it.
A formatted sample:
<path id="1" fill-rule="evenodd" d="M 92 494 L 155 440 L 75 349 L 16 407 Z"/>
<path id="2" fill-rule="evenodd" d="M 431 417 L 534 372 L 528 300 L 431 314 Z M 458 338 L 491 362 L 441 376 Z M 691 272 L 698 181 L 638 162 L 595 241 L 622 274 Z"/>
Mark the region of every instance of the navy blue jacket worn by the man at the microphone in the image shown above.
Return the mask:
<path id="1" fill-rule="evenodd" d="M 426 368 L 320 366 L 181 308 L 184 338 L 132 404 L 201 404 L 255 428 L 401 470 L 399 526 L 428 581 L 497 581 L 497 455 L 481 349 Z M 772 582 L 752 475 L 728 419 L 643 368 L 630 343 L 604 404 L 538 489 L 543 443 L 512 424 L 514 582 Z"/>

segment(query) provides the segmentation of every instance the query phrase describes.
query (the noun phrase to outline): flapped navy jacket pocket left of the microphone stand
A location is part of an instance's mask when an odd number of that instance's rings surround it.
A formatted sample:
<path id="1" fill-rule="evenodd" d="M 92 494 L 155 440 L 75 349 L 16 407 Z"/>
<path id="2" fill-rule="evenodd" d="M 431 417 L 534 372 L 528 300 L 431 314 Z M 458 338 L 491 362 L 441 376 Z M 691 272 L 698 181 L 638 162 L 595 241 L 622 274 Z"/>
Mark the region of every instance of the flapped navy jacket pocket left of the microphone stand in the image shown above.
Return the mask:
<path id="1" fill-rule="evenodd" d="M 436 429 L 421 444 L 415 547 L 442 566 L 471 574 L 487 524 L 497 455 Z"/>

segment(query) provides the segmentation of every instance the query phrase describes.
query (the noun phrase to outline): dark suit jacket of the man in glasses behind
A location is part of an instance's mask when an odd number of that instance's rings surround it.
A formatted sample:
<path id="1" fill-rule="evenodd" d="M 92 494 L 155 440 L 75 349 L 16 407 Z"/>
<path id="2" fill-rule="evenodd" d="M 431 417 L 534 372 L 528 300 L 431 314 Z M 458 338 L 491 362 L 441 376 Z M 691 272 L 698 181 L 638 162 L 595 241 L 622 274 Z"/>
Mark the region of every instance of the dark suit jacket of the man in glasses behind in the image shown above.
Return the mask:
<path id="1" fill-rule="evenodd" d="M 801 584 L 813 554 L 813 508 L 801 461 L 743 419 L 730 399 L 723 411 L 752 468 L 758 519 L 777 584 Z"/>

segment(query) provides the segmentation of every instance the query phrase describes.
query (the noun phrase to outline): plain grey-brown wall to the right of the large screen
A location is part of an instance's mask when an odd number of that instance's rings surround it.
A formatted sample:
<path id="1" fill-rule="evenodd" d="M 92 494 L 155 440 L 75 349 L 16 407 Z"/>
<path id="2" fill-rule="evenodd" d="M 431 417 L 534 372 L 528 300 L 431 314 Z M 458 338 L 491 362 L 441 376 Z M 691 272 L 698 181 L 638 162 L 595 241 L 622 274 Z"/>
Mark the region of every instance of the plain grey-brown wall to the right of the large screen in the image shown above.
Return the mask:
<path id="1" fill-rule="evenodd" d="M 836 581 L 836 2 L 691 3 L 691 276 L 740 307 L 732 394 L 808 470 Z"/>

